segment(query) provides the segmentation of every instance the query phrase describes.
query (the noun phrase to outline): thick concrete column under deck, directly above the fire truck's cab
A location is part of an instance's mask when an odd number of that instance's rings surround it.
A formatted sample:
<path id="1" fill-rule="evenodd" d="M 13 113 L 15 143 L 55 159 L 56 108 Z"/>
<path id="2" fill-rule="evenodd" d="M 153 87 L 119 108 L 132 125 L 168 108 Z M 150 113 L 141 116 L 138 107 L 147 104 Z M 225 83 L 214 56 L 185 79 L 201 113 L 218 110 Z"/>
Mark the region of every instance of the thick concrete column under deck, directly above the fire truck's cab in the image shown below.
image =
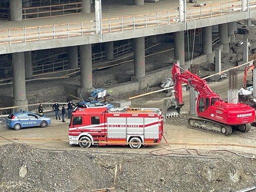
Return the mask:
<path id="1" fill-rule="evenodd" d="M 80 46 L 81 89 L 92 88 L 91 44 Z"/>

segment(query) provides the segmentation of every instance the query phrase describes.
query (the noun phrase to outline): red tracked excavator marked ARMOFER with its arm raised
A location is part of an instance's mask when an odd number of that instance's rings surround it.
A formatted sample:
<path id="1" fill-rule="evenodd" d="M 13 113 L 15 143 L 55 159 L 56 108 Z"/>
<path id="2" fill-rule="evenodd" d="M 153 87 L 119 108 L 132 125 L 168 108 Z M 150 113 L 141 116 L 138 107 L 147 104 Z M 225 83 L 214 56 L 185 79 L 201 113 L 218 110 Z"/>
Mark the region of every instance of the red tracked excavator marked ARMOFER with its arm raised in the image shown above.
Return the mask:
<path id="1" fill-rule="evenodd" d="M 181 73 L 180 70 L 183 72 Z M 188 84 L 198 92 L 197 116 L 188 119 L 190 128 L 229 135 L 232 128 L 242 132 L 250 130 L 250 123 L 255 121 L 255 109 L 242 103 L 227 103 L 213 92 L 197 75 L 174 65 L 172 69 L 175 99 L 164 100 L 165 117 L 177 116 L 184 105 L 182 83 Z"/>

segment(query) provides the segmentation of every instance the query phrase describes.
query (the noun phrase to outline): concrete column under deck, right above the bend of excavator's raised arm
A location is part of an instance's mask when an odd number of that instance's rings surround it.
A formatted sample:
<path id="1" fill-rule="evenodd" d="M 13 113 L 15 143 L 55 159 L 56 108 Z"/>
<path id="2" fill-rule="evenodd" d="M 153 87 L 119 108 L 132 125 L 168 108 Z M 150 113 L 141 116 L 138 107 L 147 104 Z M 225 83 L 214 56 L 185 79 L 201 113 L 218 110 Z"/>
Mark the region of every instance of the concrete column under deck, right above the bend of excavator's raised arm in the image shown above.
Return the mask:
<path id="1" fill-rule="evenodd" d="M 185 65 L 184 31 L 174 33 L 174 60 L 180 61 L 180 66 Z"/>

